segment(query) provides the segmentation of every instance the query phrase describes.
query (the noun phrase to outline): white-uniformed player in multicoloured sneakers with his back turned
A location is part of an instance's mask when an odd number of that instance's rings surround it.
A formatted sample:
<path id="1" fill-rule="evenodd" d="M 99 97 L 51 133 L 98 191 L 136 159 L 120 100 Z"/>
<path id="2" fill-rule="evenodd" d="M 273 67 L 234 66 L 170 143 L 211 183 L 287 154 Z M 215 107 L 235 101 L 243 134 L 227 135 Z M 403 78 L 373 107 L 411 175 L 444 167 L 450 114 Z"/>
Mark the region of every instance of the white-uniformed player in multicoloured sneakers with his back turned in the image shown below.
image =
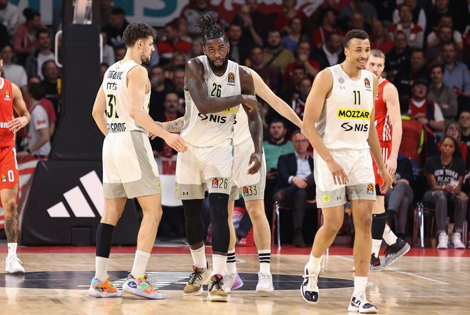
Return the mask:
<path id="1" fill-rule="evenodd" d="M 137 198 L 144 217 L 131 274 L 123 290 L 144 298 L 165 295 L 147 281 L 145 269 L 162 216 L 158 167 L 147 132 L 162 137 L 178 152 L 187 149 L 179 135 L 165 131 L 149 116 L 150 82 L 147 70 L 154 51 L 155 30 L 145 23 L 130 23 L 122 39 L 126 56 L 106 70 L 93 105 L 93 118 L 106 137 L 103 143 L 104 213 L 96 231 L 96 271 L 89 296 L 121 296 L 106 275 L 115 225 L 128 198 Z"/>

